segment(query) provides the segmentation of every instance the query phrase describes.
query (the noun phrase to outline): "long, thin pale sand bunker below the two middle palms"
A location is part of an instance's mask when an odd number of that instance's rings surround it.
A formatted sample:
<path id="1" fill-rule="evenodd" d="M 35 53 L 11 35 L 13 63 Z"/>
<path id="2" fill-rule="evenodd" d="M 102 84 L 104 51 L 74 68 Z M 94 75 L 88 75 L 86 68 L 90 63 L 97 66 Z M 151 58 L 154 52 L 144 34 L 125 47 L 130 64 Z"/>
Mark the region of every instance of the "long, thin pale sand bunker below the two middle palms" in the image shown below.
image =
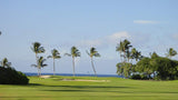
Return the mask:
<path id="1" fill-rule="evenodd" d="M 61 81 L 110 82 L 110 80 L 83 80 L 83 79 L 61 79 Z"/>

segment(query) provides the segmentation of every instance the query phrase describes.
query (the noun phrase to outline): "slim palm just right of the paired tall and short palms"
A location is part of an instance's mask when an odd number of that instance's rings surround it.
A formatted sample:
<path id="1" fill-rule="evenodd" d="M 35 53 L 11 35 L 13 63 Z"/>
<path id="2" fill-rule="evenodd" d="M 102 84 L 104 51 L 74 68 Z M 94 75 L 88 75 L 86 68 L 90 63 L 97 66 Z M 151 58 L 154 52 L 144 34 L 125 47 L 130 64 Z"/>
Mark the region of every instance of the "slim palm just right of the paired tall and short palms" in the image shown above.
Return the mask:
<path id="1" fill-rule="evenodd" d="M 55 60 L 56 59 L 60 59 L 61 57 L 60 57 L 60 53 L 59 53 L 59 51 L 57 49 L 53 49 L 51 51 L 51 53 L 52 53 L 52 56 L 48 56 L 48 58 L 52 58 L 53 59 L 53 76 L 55 76 L 55 72 L 56 72 L 56 70 L 55 70 Z"/>

